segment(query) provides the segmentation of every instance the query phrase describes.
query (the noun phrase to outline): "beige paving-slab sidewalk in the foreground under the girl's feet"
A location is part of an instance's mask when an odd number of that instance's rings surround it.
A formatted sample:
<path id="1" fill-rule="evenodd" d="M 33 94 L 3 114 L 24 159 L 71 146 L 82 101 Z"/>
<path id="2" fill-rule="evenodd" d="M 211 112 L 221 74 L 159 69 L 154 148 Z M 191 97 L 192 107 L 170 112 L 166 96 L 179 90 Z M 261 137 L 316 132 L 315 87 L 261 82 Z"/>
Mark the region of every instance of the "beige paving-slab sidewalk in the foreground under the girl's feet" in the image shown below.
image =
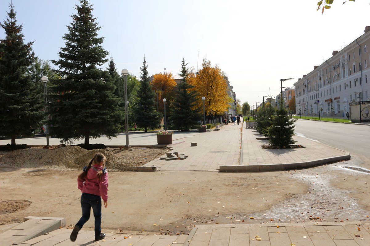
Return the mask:
<path id="1" fill-rule="evenodd" d="M 370 222 L 306 222 L 196 225 L 189 235 L 106 233 L 94 241 L 93 231 L 81 230 L 71 242 L 71 229 L 58 229 L 20 246 L 369 246 Z M 1 239 L 0 239 L 1 243 Z"/>

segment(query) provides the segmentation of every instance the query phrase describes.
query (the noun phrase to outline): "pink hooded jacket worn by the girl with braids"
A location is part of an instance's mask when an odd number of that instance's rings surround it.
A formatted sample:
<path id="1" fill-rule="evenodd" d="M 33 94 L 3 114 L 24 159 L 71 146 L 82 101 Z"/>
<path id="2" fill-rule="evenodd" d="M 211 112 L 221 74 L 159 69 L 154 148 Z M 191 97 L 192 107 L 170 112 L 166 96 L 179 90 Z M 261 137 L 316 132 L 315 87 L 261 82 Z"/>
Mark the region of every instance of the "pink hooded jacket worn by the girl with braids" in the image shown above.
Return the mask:
<path id="1" fill-rule="evenodd" d="M 99 170 L 103 171 L 100 181 L 99 176 L 97 176 Z M 83 193 L 100 195 L 105 202 L 108 200 L 108 172 L 107 169 L 103 170 L 102 166 L 91 166 L 87 171 L 85 180 L 77 179 L 77 184 Z"/>

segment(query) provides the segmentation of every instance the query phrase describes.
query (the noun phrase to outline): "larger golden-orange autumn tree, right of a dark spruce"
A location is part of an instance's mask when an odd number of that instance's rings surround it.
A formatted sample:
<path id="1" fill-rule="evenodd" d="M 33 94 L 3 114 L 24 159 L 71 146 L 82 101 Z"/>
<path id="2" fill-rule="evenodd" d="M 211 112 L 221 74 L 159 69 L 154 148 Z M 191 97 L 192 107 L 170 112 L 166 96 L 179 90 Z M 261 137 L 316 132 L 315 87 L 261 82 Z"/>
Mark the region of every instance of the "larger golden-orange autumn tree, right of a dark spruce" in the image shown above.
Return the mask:
<path id="1" fill-rule="evenodd" d="M 207 115 L 223 115 L 228 110 L 232 99 L 227 94 L 226 80 L 218 66 L 212 67 L 209 60 L 203 59 L 202 69 L 196 75 L 190 75 L 188 83 L 198 92 L 199 104 L 202 104 L 202 97 L 206 98 Z"/>

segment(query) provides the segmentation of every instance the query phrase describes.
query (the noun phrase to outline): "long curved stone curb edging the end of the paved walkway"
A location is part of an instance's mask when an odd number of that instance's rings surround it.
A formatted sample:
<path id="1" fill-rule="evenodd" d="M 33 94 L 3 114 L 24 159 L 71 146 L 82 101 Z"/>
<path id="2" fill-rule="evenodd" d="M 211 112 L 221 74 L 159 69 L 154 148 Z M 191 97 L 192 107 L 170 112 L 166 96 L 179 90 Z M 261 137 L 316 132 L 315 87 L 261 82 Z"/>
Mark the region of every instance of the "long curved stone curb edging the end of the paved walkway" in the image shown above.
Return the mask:
<path id="1" fill-rule="evenodd" d="M 334 156 L 329 158 L 317 159 L 308 162 L 293 162 L 293 163 L 282 163 L 282 164 L 266 164 L 266 165 L 229 165 L 220 166 L 220 172 L 258 172 L 258 171 L 282 171 L 289 169 L 300 169 L 307 167 L 319 166 L 332 162 L 339 162 L 341 160 L 350 160 L 351 155 L 346 152 L 342 156 Z"/>

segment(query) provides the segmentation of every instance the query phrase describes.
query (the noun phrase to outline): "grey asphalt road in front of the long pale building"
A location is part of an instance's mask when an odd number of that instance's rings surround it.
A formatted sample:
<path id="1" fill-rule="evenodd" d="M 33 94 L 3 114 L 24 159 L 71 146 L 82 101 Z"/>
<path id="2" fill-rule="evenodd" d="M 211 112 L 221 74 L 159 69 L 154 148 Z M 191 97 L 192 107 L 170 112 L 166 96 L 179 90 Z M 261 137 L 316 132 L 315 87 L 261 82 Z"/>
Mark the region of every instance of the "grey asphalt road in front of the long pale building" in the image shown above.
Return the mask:
<path id="1" fill-rule="evenodd" d="M 340 124 L 298 119 L 295 132 L 298 136 L 314 139 L 334 148 L 349 151 L 363 158 L 369 157 L 369 125 Z"/>

